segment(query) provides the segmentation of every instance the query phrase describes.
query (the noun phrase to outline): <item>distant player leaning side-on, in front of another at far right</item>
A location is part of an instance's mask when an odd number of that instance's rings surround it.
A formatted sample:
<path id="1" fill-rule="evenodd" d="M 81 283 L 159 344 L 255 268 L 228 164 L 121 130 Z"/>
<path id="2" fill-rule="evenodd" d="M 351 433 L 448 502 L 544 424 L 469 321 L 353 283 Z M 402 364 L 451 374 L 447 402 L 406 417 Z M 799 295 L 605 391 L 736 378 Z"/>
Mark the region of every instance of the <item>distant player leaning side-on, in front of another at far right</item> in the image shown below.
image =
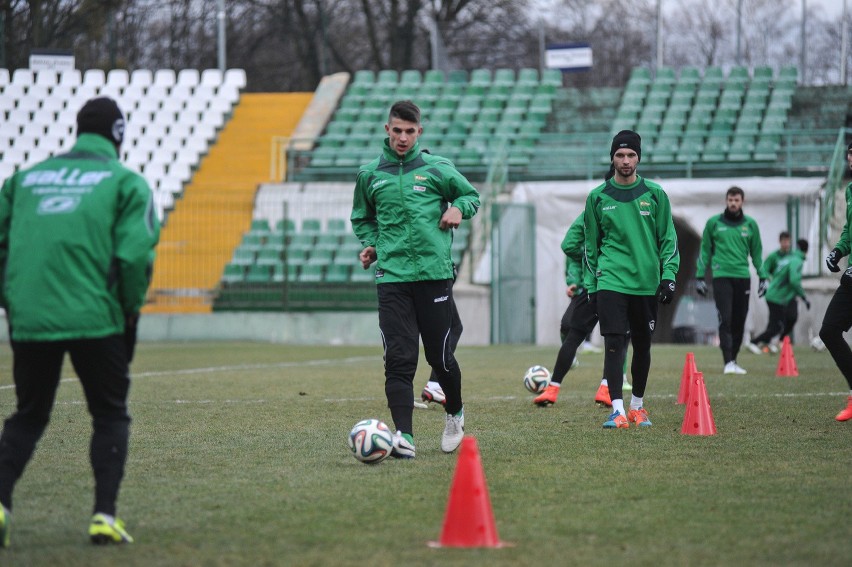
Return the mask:
<path id="1" fill-rule="evenodd" d="M 801 297 L 805 307 L 811 308 L 805 290 L 802 289 L 802 266 L 808 253 L 808 241 L 799 239 L 796 242 L 796 251 L 781 258 L 775 267 L 772 281 L 766 290 L 766 304 L 769 306 L 769 323 L 766 330 L 754 338 L 758 348 L 769 344 L 773 337 L 787 336 L 788 327 L 792 330 L 796 319 L 788 320 L 790 303 L 795 305 L 796 298 Z M 798 309 L 794 311 L 798 316 Z M 758 351 L 760 352 L 760 351 Z"/>

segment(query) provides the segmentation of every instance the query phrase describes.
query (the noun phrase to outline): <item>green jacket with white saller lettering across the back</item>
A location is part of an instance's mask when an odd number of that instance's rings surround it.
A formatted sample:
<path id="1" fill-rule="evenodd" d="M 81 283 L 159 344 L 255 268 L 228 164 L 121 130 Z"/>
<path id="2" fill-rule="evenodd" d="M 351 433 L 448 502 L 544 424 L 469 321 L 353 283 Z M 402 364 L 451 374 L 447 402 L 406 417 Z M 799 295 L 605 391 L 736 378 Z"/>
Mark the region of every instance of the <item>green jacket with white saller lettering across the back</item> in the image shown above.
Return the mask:
<path id="1" fill-rule="evenodd" d="M 159 230 L 148 184 L 97 134 L 10 177 L 0 192 L 0 302 L 12 339 L 124 332 L 125 315 L 144 303 Z"/>

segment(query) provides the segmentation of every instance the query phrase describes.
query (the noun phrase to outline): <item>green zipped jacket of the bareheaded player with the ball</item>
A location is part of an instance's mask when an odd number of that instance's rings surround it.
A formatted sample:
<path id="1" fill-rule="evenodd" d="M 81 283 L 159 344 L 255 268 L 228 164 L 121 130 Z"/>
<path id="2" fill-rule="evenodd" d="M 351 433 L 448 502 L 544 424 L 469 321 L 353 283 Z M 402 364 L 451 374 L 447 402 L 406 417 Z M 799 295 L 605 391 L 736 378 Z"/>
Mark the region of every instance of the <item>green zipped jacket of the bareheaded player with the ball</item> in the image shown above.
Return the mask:
<path id="1" fill-rule="evenodd" d="M 479 193 L 443 157 L 415 144 L 401 158 L 385 139 L 382 155 L 361 166 L 352 200 L 352 230 L 378 256 L 377 283 L 453 277 L 452 230 L 438 226 L 448 207 L 471 218 Z"/>

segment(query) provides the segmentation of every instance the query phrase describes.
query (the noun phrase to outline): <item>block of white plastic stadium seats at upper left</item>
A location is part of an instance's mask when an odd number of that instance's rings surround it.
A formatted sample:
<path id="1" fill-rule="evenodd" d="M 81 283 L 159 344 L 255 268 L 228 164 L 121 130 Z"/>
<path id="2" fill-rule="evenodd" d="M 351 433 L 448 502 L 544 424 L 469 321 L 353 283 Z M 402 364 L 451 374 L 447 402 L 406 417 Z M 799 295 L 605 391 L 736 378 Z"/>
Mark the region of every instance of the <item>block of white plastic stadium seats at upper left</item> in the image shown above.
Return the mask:
<path id="1" fill-rule="evenodd" d="M 94 96 L 115 98 L 127 118 L 122 159 L 145 175 L 154 190 L 160 217 L 174 206 L 200 159 L 215 142 L 245 87 L 245 72 L 229 69 L 188 73 L 182 88 L 173 88 L 172 70 L 113 69 L 31 71 L 16 69 L 0 78 L 0 130 L 10 143 L 2 150 L 4 177 L 73 142 L 77 110 Z M 192 73 L 194 71 L 194 73 Z M 0 77 L 9 77 L 8 69 Z M 200 88 L 200 87 L 204 88 Z"/>

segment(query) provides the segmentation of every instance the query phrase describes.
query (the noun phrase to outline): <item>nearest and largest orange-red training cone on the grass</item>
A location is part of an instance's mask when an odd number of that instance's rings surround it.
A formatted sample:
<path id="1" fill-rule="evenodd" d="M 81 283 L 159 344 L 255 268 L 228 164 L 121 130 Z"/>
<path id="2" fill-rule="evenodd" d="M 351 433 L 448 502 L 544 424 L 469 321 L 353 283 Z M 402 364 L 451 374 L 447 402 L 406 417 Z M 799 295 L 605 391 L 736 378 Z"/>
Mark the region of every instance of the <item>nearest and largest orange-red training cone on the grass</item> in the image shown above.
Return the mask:
<path id="1" fill-rule="evenodd" d="M 432 547 L 502 547 L 476 438 L 462 439 L 441 539 Z"/>

